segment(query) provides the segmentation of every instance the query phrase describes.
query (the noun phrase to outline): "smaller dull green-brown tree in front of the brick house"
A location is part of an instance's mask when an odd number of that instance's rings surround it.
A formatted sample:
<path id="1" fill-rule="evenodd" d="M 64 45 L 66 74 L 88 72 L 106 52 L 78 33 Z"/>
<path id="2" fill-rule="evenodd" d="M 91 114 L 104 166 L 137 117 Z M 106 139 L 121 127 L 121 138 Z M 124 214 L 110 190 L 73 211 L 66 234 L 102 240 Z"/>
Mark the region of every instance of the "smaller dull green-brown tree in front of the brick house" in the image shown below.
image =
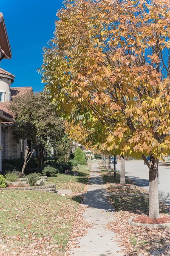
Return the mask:
<path id="1" fill-rule="evenodd" d="M 17 142 L 21 138 L 31 137 L 41 168 L 49 145 L 62 144 L 65 138 L 64 124 L 54 105 L 50 104 L 43 93 L 30 92 L 13 98 L 9 110 L 17 124 L 17 130 L 14 131 Z"/>

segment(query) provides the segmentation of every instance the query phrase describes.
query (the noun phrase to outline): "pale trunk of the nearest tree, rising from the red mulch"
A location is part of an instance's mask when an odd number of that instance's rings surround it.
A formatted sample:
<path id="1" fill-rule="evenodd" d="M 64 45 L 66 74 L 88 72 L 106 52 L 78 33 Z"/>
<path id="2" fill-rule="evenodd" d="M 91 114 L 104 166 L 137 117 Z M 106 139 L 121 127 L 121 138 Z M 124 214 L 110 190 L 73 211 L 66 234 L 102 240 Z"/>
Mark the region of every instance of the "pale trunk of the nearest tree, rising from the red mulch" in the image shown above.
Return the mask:
<path id="1" fill-rule="evenodd" d="M 149 218 L 160 218 L 159 215 L 159 175 L 158 164 L 159 160 L 154 157 L 150 157 L 149 167 Z"/>

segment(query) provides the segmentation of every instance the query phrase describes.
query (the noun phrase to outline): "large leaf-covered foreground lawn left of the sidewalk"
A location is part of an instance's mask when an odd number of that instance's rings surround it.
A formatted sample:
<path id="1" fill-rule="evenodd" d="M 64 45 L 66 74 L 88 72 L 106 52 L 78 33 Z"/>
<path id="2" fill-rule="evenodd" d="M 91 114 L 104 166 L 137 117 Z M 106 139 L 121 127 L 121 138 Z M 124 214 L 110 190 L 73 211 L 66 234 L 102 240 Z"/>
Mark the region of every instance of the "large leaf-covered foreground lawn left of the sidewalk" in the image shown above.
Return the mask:
<path id="1" fill-rule="evenodd" d="M 0 255 L 62 255 L 81 198 L 0 192 Z"/>

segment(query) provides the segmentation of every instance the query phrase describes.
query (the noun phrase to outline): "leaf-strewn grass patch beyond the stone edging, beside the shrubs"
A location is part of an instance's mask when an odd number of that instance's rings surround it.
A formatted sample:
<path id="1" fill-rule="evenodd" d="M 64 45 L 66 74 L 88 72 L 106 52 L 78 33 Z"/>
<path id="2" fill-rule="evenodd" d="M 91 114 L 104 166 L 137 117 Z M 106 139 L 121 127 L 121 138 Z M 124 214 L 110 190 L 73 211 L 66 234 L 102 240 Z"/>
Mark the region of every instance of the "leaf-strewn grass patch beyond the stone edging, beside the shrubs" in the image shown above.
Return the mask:
<path id="1" fill-rule="evenodd" d="M 85 190 L 88 184 L 91 163 L 88 166 L 79 166 L 79 175 L 57 174 L 55 177 L 48 177 L 48 183 L 56 183 L 56 189 L 71 189 L 73 193 L 80 193 Z"/>

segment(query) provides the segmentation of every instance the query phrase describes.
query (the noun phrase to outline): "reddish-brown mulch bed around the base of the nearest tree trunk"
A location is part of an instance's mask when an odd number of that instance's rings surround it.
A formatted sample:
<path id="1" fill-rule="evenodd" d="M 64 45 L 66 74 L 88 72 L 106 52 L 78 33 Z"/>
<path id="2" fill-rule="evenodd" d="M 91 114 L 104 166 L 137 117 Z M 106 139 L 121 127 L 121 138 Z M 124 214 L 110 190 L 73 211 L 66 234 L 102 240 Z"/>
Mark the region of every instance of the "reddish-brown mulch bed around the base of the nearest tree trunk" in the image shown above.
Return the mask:
<path id="1" fill-rule="evenodd" d="M 160 216 L 160 218 L 151 219 L 148 216 L 138 216 L 132 221 L 143 224 L 163 224 L 170 222 L 170 216 Z"/>

